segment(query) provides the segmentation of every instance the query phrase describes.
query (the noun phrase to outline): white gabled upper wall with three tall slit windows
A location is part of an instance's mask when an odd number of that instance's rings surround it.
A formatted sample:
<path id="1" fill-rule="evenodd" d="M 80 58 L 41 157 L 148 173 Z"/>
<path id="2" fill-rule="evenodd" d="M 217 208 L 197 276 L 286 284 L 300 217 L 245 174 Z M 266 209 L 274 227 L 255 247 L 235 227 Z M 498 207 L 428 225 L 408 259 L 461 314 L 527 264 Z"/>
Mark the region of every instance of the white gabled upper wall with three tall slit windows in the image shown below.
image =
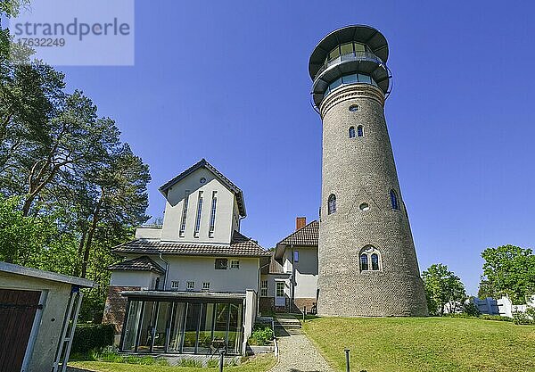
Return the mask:
<path id="1" fill-rule="evenodd" d="M 201 184 L 200 179 L 206 178 Z M 179 236 L 182 211 L 184 208 L 185 191 L 189 190 L 185 235 Z M 202 191 L 202 217 L 199 236 L 194 237 L 193 231 L 197 217 L 199 191 Z M 216 223 L 213 237 L 209 237 L 210 211 L 212 192 L 217 191 L 218 203 L 216 209 Z M 197 169 L 182 179 L 175 186 L 169 188 L 163 227 L 162 241 L 178 241 L 193 243 L 223 243 L 229 244 L 233 233 L 233 212 L 235 211 L 235 195 L 223 186 L 208 169 Z"/>

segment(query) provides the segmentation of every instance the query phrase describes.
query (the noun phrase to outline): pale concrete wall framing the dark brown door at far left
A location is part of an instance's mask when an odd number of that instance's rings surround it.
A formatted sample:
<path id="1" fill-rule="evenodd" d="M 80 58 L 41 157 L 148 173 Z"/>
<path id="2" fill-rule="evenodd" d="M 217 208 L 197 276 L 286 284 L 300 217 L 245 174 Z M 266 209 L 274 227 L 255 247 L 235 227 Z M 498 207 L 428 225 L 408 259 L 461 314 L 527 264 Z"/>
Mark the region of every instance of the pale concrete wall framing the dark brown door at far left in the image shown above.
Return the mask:
<path id="1" fill-rule="evenodd" d="M 37 310 L 40 323 L 34 325 L 29 344 L 33 351 L 25 372 L 50 372 L 62 333 L 63 318 L 70 298 L 70 284 L 36 277 L 0 272 L 0 288 L 41 291 L 43 310 Z M 39 314 L 40 313 L 40 314 Z"/>

